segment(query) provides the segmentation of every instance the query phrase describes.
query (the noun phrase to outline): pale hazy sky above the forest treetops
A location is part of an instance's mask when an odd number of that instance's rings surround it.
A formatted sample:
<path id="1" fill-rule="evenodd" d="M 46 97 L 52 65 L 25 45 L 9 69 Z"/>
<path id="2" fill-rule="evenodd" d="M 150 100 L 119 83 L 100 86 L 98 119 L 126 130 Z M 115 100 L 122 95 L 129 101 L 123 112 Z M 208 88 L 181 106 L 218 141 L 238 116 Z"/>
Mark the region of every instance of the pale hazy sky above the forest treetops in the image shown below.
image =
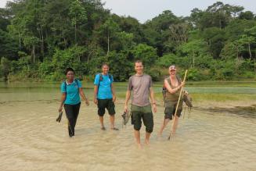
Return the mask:
<path id="1" fill-rule="evenodd" d="M 255 0 L 218 0 L 229 5 L 240 5 L 245 11 L 256 14 Z M 0 0 L 0 8 L 5 7 L 6 0 Z M 102 0 L 104 7 L 111 9 L 112 13 L 119 16 L 132 16 L 145 23 L 158 16 L 164 10 L 171 10 L 175 16 L 189 16 L 194 8 L 207 9 L 217 0 Z"/>

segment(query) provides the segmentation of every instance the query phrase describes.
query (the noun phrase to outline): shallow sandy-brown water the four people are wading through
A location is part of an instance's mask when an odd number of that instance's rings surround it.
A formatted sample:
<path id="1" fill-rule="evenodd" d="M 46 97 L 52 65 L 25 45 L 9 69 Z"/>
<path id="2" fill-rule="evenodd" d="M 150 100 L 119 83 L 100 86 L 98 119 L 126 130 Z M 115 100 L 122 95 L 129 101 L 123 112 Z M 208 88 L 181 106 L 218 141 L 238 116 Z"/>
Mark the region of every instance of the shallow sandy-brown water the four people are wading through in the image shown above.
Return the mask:
<path id="1" fill-rule="evenodd" d="M 180 119 L 177 136 L 157 137 L 164 109 L 154 114 L 150 146 L 135 147 L 132 126 L 121 128 L 123 100 L 117 101 L 117 127 L 99 129 L 96 105 L 81 105 L 75 136 L 67 134 L 67 119 L 56 123 L 59 85 L 45 88 L 0 88 L 1 170 L 255 170 L 256 118 L 227 109 L 194 108 Z M 92 85 L 88 85 L 92 87 Z M 27 91 L 28 93 L 27 93 Z M 124 87 L 125 89 L 125 87 Z M 124 90 L 122 87 L 119 90 Z M 85 92 L 87 90 L 85 89 Z M 92 95 L 87 91 L 89 95 Z M 196 106 L 197 107 L 197 106 Z M 253 106 L 254 107 L 254 106 Z M 235 110 L 235 109 L 234 109 Z M 244 111 L 243 109 L 236 109 Z M 250 112 L 248 112 L 250 114 Z M 253 115 L 252 110 L 250 115 Z M 142 141 L 145 136 L 142 127 Z"/>

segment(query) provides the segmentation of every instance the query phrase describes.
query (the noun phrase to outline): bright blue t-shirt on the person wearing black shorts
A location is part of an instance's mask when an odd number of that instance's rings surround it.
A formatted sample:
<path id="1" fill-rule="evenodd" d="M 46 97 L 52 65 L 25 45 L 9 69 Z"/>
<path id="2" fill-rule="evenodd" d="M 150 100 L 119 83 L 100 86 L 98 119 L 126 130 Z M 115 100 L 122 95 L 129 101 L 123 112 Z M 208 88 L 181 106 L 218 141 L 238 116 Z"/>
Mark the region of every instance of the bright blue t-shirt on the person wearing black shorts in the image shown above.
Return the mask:
<path id="1" fill-rule="evenodd" d="M 113 83 L 113 77 L 109 74 L 103 75 L 103 80 L 99 80 L 100 74 L 97 74 L 94 80 L 94 85 L 98 86 L 98 95 L 99 99 L 113 98 L 111 91 L 111 84 Z"/>

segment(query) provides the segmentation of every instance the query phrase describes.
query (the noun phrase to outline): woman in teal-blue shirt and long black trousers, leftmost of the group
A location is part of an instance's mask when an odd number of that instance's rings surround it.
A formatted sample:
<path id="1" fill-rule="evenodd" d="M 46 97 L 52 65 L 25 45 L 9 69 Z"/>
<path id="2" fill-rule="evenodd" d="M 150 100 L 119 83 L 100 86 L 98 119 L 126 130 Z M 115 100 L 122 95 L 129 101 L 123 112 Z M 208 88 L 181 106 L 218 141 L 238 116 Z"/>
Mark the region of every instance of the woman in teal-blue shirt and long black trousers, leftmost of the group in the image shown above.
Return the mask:
<path id="1" fill-rule="evenodd" d="M 68 134 L 70 137 L 74 136 L 74 127 L 76 126 L 78 113 L 80 109 L 80 96 L 85 100 L 85 104 L 89 105 L 88 98 L 85 97 L 84 91 L 81 87 L 81 81 L 74 79 L 74 69 L 66 69 L 67 80 L 61 84 L 61 103 L 59 112 L 62 112 L 63 105 L 68 119 Z M 80 94 L 80 96 L 79 96 Z"/>

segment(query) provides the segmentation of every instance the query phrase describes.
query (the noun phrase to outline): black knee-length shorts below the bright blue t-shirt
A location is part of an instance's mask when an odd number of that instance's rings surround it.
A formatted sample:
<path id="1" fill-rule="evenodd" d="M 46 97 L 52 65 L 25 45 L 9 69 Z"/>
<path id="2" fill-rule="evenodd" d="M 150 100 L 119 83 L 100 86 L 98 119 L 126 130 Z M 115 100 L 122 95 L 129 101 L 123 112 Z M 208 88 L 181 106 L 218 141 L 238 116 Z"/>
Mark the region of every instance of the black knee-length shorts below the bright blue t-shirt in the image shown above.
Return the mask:
<path id="1" fill-rule="evenodd" d="M 113 116 L 116 113 L 114 110 L 114 102 L 112 98 L 98 99 L 98 115 L 104 116 L 105 109 L 107 109 L 110 116 Z"/>

